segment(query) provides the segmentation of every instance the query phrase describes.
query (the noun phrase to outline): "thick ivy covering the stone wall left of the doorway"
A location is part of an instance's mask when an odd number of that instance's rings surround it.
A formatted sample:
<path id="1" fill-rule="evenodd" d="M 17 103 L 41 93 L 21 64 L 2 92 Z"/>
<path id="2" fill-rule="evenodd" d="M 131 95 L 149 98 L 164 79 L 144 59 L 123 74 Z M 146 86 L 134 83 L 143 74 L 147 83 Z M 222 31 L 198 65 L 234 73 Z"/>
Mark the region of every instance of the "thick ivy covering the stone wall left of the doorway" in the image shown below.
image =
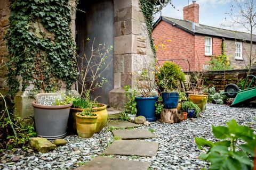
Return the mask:
<path id="1" fill-rule="evenodd" d="M 50 92 L 62 80 L 70 89 L 78 72 L 68 0 L 13 0 L 9 20 L 9 94 L 18 92 L 20 82 L 22 90 L 33 83 L 35 89 Z"/>

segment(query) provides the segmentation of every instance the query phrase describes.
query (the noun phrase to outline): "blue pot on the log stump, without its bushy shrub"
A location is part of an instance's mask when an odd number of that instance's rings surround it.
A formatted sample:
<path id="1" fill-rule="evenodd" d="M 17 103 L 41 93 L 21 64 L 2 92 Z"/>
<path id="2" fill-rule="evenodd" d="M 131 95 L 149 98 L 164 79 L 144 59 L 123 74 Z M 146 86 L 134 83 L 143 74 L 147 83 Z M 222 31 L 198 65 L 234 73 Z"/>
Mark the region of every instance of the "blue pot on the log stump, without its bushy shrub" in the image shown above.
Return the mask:
<path id="1" fill-rule="evenodd" d="M 178 92 L 162 92 L 164 108 L 177 108 L 179 103 Z"/>

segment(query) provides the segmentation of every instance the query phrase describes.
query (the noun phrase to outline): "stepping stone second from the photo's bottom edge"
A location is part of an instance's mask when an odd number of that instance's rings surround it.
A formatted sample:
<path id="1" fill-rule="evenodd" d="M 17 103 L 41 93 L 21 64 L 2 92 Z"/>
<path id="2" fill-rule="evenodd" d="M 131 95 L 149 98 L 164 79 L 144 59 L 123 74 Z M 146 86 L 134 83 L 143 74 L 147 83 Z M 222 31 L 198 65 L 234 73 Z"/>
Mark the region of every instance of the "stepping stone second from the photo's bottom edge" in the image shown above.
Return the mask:
<path id="1" fill-rule="evenodd" d="M 105 150 L 106 155 L 156 156 L 158 142 L 143 140 L 115 140 Z"/>

